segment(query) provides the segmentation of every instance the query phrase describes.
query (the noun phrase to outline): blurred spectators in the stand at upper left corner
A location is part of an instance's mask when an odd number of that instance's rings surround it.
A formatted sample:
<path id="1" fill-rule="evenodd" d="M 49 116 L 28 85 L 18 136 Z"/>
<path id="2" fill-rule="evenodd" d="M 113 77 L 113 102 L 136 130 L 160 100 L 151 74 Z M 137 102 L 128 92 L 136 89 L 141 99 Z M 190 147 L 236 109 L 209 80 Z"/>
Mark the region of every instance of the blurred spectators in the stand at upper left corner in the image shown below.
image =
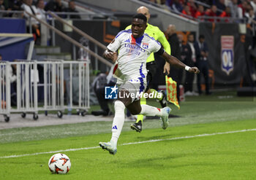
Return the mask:
<path id="1" fill-rule="evenodd" d="M 75 1 L 73 0 L 69 1 L 67 7 L 64 6 L 61 0 L 50 0 L 48 2 L 45 0 L 0 0 L 0 10 L 5 10 L 5 12 L 0 12 L 0 17 L 25 18 L 27 26 L 26 31 L 31 32 L 34 35 L 36 44 L 41 43 L 41 27 L 39 21 L 33 17 L 30 18 L 29 14 L 34 15 L 39 20 L 46 21 L 48 19 L 47 11 L 71 12 L 71 14 L 65 13 L 60 14 L 59 16 L 63 18 L 80 19 L 80 15 L 75 9 Z"/>

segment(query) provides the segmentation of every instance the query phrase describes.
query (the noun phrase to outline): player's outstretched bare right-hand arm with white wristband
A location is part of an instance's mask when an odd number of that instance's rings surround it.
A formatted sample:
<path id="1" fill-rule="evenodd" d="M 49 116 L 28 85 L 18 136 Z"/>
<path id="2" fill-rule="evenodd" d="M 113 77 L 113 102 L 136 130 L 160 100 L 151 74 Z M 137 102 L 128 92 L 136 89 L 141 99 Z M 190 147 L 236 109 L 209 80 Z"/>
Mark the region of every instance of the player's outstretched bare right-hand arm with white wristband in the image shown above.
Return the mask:
<path id="1" fill-rule="evenodd" d="M 185 69 L 186 71 L 189 71 L 191 73 L 198 74 L 200 73 L 199 69 L 197 67 L 189 67 L 186 66 L 186 64 L 182 63 L 180 60 L 175 58 L 172 55 L 168 55 L 166 52 L 164 52 L 162 55 L 162 58 L 165 58 L 165 60 L 170 63 L 171 66 L 175 66 L 176 68 Z"/>

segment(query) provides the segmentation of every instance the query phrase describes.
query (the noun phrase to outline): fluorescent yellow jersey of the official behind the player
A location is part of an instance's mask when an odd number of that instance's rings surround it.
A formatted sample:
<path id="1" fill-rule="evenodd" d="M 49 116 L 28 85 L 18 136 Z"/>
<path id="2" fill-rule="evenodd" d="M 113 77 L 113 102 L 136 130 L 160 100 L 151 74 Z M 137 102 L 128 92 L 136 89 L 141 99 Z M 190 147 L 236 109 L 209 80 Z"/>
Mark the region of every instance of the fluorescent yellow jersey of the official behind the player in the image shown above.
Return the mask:
<path id="1" fill-rule="evenodd" d="M 165 34 L 157 27 L 153 26 L 151 24 L 147 24 L 147 28 L 145 30 L 145 33 L 148 34 L 148 36 L 154 37 L 158 42 L 162 44 L 162 46 L 165 49 L 165 52 L 167 52 L 168 55 L 170 55 L 170 44 L 165 38 Z M 132 25 L 127 26 L 127 29 L 132 28 Z M 147 63 L 154 61 L 154 53 L 151 53 L 151 55 L 148 56 L 147 58 Z"/>

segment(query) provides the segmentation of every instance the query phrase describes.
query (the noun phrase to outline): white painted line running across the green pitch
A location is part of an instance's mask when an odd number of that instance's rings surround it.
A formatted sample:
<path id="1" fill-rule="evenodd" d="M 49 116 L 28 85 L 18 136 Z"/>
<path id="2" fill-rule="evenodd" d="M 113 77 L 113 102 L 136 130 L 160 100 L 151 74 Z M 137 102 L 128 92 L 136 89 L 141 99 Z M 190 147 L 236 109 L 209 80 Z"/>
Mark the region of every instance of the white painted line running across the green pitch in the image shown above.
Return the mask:
<path id="1" fill-rule="evenodd" d="M 145 143 L 158 142 L 158 141 L 173 141 L 173 140 L 184 139 L 184 138 L 197 138 L 197 137 L 215 136 L 215 135 L 221 135 L 221 134 L 230 134 L 230 133 L 244 133 L 244 132 L 248 132 L 248 131 L 256 131 L 256 129 L 234 130 L 234 131 L 211 133 L 211 134 L 198 134 L 198 135 L 194 135 L 194 136 L 183 136 L 183 137 L 176 137 L 176 138 L 152 139 L 152 140 L 148 140 L 148 141 L 124 143 L 119 146 L 126 146 L 126 145 L 131 145 L 131 144 L 145 144 Z M 97 149 L 97 148 L 99 148 L 99 146 L 83 147 L 83 148 L 77 148 L 77 149 L 64 149 L 64 150 L 58 150 L 58 151 L 52 151 L 52 152 L 36 152 L 36 153 L 32 153 L 32 154 L 3 156 L 3 157 L 0 157 L 0 159 L 11 158 L 11 157 L 33 156 L 33 155 L 39 155 L 39 154 L 53 154 L 53 153 L 58 153 L 58 152 L 74 152 L 74 151 L 79 151 L 79 150 Z"/>

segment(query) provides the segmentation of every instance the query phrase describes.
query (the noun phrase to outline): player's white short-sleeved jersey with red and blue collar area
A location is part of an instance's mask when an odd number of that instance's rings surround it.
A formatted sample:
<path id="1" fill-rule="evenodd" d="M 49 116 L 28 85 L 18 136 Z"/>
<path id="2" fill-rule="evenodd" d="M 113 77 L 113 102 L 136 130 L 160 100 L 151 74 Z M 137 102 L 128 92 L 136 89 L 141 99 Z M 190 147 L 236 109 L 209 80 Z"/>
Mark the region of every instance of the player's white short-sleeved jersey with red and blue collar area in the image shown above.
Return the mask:
<path id="1" fill-rule="evenodd" d="M 132 30 L 120 31 L 116 38 L 108 45 L 108 50 L 118 52 L 118 70 L 121 71 L 121 79 L 127 81 L 129 79 L 145 78 L 146 59 L 151 52 L 157 52 L 161 48 L 161 44 L 154 38 L 143 34 L 135 39 L 132 36 Z"/>

